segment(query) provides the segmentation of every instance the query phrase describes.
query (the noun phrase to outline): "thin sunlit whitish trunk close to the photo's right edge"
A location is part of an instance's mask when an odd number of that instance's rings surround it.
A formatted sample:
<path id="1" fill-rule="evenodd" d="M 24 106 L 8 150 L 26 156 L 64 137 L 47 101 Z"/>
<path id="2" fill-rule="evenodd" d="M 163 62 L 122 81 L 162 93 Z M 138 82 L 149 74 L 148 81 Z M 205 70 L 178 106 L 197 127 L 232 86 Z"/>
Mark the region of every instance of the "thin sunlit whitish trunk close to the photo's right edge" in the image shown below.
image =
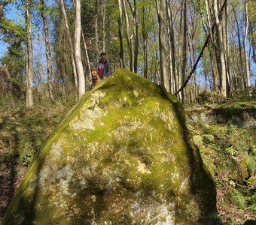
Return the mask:
<path id="1" fill-rule="evenodd" d="M 245 0 L 245 34 L 244 34 L 244 49 L 245 49 L 245 67 L 246 67 L 246 86 L 247 88 L 251 86 L 250 82 L 250 65 L 248 61 L 248 53 L 247 53 L 247 37 L 248 37 L 248 3 Z"/>

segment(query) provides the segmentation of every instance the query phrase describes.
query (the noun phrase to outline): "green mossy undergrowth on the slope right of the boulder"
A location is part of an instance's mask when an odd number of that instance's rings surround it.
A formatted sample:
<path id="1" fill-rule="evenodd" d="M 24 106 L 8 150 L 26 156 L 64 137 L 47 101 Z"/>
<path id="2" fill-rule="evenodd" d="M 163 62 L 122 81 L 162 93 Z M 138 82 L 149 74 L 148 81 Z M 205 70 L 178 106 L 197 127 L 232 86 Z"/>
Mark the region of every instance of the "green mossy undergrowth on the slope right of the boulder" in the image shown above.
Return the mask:
<path id="1" fill-rule="evenodd" d="M 252 103 L 253 104 L 253 103 Z M 251 103 L 219 107 L 251 107 Z M 221 224 L 243 224 L 256 213 L 256 126 L 188 124 L 218 191 Z"/>

